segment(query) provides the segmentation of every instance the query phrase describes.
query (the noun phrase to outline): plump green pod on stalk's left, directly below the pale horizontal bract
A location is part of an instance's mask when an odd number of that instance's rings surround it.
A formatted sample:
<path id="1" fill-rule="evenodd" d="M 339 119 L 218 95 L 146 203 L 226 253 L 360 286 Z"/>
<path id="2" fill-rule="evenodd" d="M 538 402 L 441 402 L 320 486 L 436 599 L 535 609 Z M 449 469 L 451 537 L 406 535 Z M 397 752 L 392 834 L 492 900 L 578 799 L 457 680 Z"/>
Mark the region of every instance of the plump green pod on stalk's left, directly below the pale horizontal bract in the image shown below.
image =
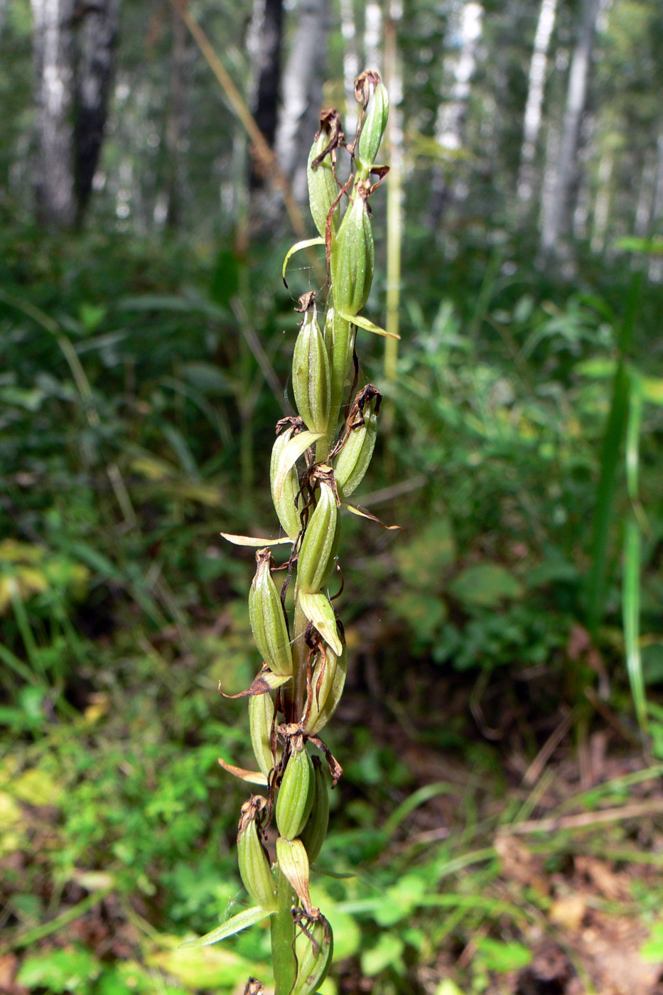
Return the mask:
<path id="1" fill-rule="evenodd" d="M 293 673 L 293 654 L 281 598 L 272 580 L 269 548 L 256 553 L 258 569 L 249 591 L 249 621 L 256 645 L 270 670 L 279 677 Z"/>

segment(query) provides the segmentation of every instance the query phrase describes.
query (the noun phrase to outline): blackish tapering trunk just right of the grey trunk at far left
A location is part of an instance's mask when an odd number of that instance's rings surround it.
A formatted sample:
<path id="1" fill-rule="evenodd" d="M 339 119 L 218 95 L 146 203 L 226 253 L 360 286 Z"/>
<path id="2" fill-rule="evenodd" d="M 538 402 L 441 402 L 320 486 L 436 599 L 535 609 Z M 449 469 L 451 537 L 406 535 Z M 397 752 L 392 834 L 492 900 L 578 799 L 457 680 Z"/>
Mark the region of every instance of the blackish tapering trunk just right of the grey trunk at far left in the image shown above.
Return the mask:
<path id="1" fill-rule="evenodd" d="M 74 126 L 79 220 L 90 200 L 104 140 L 118 14 L 119 0 L 94 0 L 80 14 Z"/>

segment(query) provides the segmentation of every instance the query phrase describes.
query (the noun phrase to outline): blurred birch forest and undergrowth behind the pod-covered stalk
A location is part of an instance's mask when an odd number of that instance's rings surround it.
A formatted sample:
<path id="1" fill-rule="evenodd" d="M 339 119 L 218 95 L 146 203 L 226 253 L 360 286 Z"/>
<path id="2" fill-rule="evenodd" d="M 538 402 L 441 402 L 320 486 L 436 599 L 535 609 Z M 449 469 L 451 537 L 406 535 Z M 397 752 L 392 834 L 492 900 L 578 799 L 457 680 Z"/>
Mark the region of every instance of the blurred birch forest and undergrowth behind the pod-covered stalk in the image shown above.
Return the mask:
<path id="1" fill-rule="evenodd" d="M 351 133 L 366 66 L 366 313 L 401 340 L 361 343 L 359 499 L 403 530 L 343 523 L 323 991 L 661 990 L 660 4 L 0 0 L 10 995 L 269 978 L 261 929 L 178 949 L 245 901 L 217 686 L 260 663 L 253 556 L 219 532 L 270 520 L 324 284 L 281 266 L 321 106 Z"/>

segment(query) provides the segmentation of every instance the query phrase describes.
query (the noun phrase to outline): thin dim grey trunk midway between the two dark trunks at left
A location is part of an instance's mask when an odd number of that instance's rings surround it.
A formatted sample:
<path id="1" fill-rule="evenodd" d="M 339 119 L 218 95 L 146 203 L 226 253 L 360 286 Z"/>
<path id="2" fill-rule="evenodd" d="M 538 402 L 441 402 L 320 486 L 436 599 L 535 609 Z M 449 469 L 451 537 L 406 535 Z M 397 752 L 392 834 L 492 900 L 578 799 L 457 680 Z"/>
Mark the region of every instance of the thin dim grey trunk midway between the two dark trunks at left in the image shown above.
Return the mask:
<path id="1" fill-rule="evenodd" d="M 176 11 L 172 15 L 172 53 L 170 95 L 165 126 L 167 210 L 166 225 L 174 229 L 182 220 L 186 192 L 186 158 L 184 143 L 187 125 L 186 103 L 186 26 Z"/>

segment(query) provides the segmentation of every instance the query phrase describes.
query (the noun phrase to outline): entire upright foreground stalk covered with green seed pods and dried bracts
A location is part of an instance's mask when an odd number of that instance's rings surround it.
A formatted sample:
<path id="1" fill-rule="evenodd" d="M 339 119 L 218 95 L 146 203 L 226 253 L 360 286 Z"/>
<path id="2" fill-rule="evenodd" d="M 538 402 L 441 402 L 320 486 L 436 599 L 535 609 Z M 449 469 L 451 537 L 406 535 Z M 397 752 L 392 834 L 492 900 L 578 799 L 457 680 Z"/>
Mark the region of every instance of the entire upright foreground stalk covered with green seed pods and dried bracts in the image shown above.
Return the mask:
<path id="1" fill-rule="evenodd" d="M 385 335 L 361 315 L 373 276 L 373 240 L 368 199 L 386 174 L 375 157 L 388 114 L 387 93 L 376 73 L 355 81 L 361 105 L 354 141 L 345 142 L 336 110 L 326 110 L 309 157 L 311 212 L 318 239 L 298 243 L 286 257 L 312 245 L 325 245 L 328 259 L 327 313 L 318 321 L 316 294 L 300 298 L 302 324 L 293 355 L 293 391 L 298 414 L 277 425 L 271 461 L 274 505 L 285 537 L 266 542 L 249 536 L 225 537 L 257 549 L 257 571 L 249 595 L 249 615 L 263 668 L 249 698 L 251 740 L 258 770 L 230 767 L 235 775 L 266 788 L 242 807 L 238 855 L 242 881 L 255 907 L 233 916 L 195 940 L 217 942 L 262 919 L 271 919 L 276 995 L 307 995 L 323 983 L 331 965 L 333 939 L 324 913 L 309 892 L 311 866 L 327 834 L 329 797 L 321 760 L 325 755 L 332 785 L 342 770 L 320 738 L 343 690 L 347 658 L 342 626 L 328 595 L 337 571 L 339 509 L 372 517 L 346 503 L 361 482 L 372 456 L 380 393 L 372 384 L 356 390 L 357 327 Z M 336 179 L 339 149 L 352 168 L 343 185 Z M 371 182 L 371 177 L 376 182 Z M 343 198 L 347 204 L 341 217 Z M 346 386 L 352 386 L 349 397 Z M 291 553 L 282 590 L 273 578 L 271 546 L 288 544 Z M 285 609 L 294 585 L 294 613 Z M 277 863 L 265 847 L 266 829 L 276 824 Z M 261 985 L 250 979 L 247 991 Z"/>

